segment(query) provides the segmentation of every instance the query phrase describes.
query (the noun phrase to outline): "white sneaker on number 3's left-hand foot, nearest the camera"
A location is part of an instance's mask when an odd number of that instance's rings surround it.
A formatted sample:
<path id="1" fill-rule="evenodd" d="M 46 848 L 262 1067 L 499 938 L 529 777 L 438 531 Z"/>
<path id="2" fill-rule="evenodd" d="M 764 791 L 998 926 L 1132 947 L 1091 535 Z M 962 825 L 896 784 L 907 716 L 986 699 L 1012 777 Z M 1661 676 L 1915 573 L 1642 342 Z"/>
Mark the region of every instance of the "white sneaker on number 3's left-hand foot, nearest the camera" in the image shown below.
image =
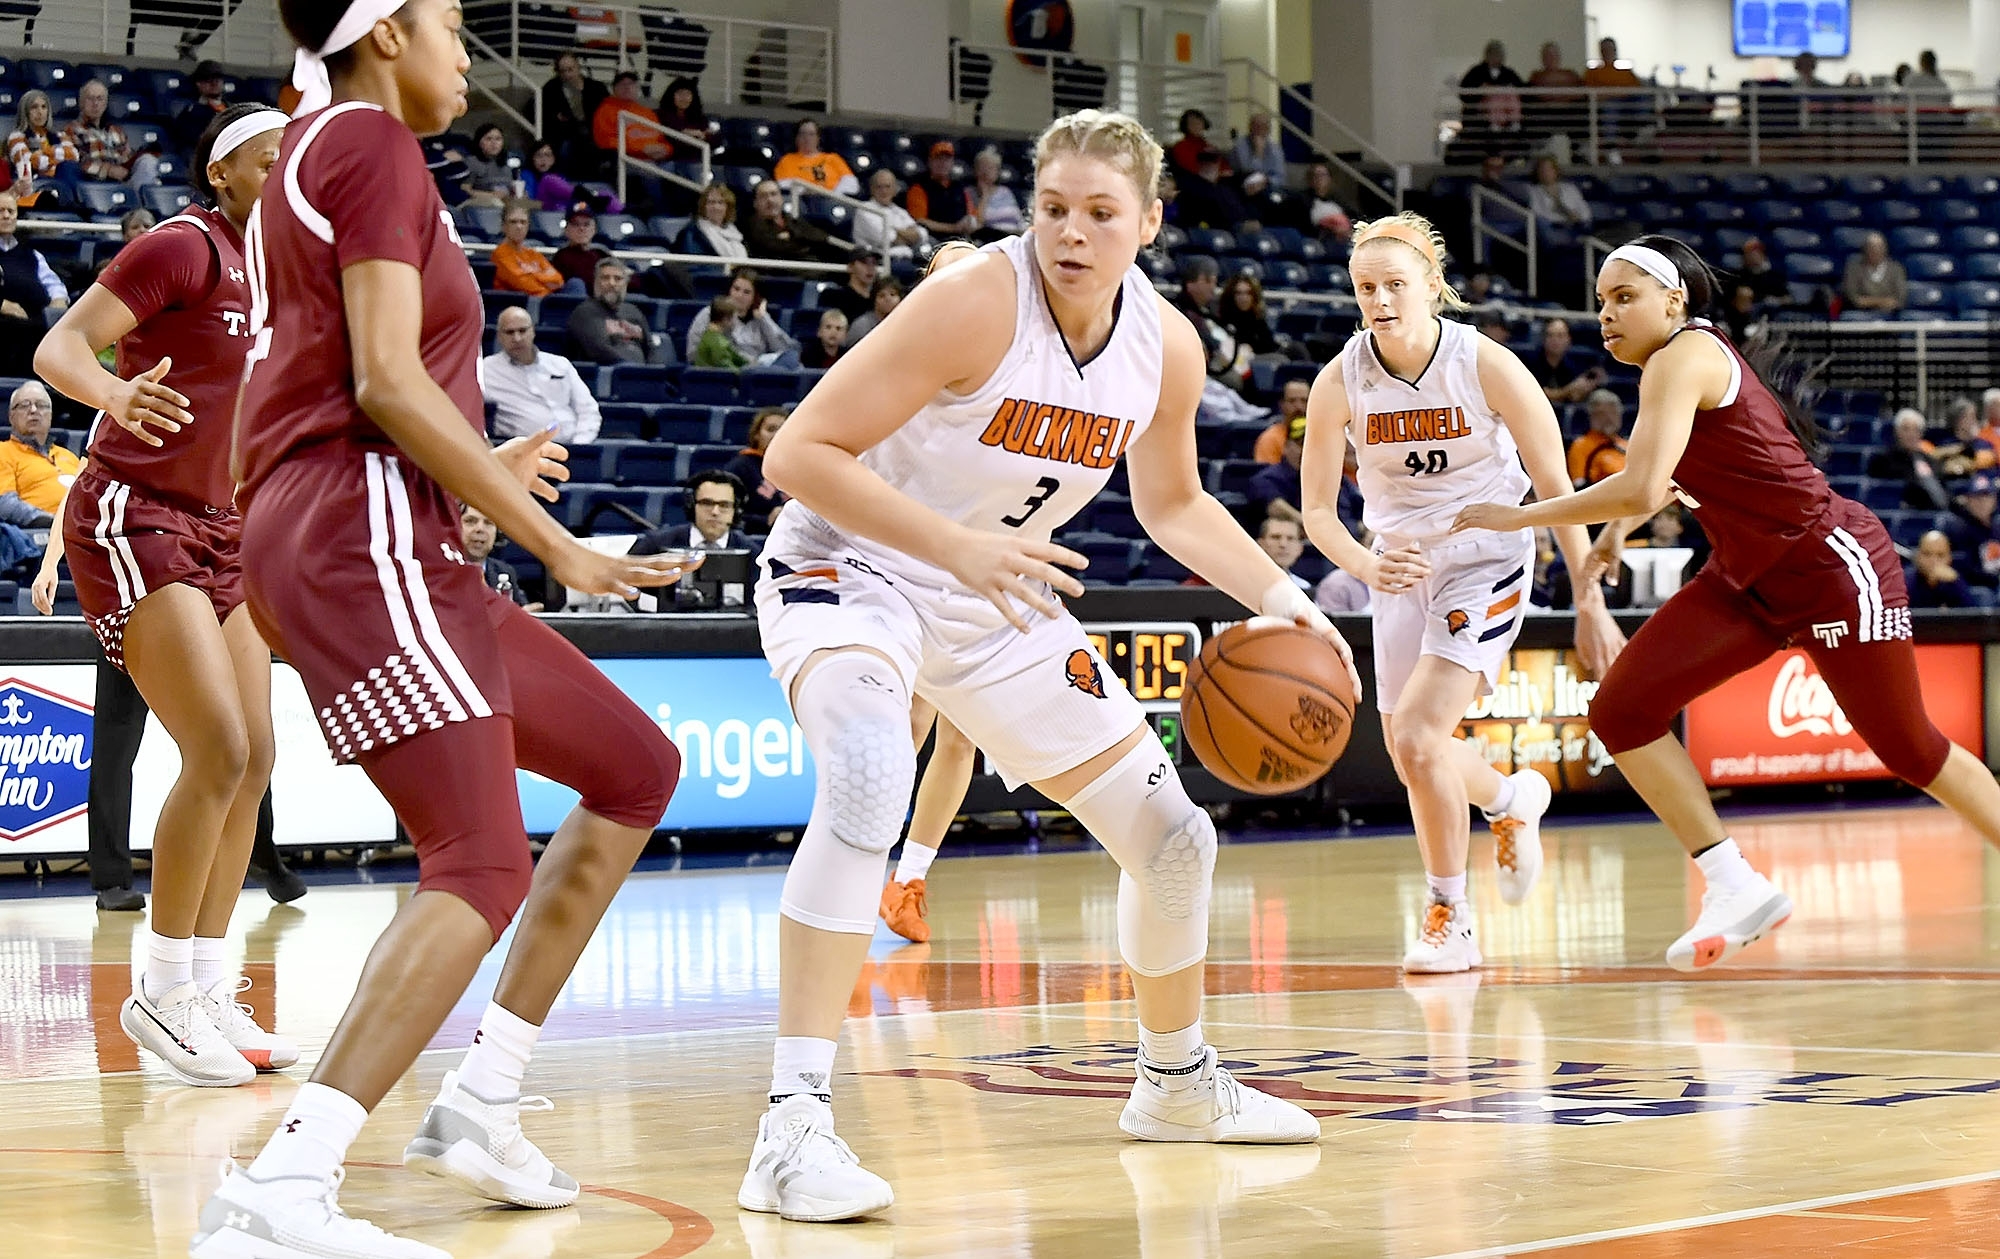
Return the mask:
<path id="1" fill-rule="evenodd" d="M 764 1111 L 736 1205 L 822 1223 L 856 1219 L 896 1201 L 888 1181 L 862 1167 L 834 1135 L 834 1107 L 794 1093 Z"/>

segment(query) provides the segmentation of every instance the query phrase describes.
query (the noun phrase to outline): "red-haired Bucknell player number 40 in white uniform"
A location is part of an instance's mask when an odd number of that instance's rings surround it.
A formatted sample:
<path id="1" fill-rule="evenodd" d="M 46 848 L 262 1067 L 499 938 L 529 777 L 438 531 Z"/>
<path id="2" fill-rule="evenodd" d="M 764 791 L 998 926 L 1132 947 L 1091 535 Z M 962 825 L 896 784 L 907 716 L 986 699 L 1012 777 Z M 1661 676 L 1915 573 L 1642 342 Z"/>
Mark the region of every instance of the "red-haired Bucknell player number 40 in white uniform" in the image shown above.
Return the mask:
<path id="1" fill-rule="evenodd" d="M 1444 246 L 1422 216 L 1354 230 L 1348 262 L 1364 328 L 1320 372 L 1306 406 L 1306 532 L 1376 594 L 1376 707 L 1396 775 L 1410 791 L 1430 899 L 1402 967 L 1454 973 L 1480 965 L 1466 895 L 1468 801 L 1494 831 L 1500 899 L 1516 905 L 1542 873 L 1550 783 L 1534 767 L 1502 775 L 1458 737 L 1466 709 L 1500 681 L 1534 574 L 1534 534 L 1448 538 L 1466 502 L 1518 504 L 1570 494 L 1562 430 L 1522 362 L 1470 324 L 1444 282 Z M 1354 444 L 1364 548 L 1334 510 L 1346 442 Z M 1526 468 L 1524 468 L 1526 466 Z M 1558 532 L 1578 572 L 1580 528 Z M 1596 584 L 1576 584 L 1576 649 L 1598 675 L 1624 645 Z"/>

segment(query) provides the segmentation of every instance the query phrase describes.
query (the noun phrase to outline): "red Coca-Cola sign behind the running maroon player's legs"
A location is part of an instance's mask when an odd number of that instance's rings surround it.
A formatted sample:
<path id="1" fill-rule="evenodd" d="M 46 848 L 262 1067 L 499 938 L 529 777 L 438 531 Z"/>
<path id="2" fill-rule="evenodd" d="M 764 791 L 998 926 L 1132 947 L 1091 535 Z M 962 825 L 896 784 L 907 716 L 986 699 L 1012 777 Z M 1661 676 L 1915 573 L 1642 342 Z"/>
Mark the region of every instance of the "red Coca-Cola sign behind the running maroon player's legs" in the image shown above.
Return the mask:
<path id="1" fill-rule="evenodd" d="M 1920 645 L 1916 673 L 1938 729 L 1984 755 L 1980 647 Z M 1772 655 L 1690 703 L 1688 753 L 1710 785 L 1890 777 L 1840 711 L 1812 655 L 1796 649 Z"/>

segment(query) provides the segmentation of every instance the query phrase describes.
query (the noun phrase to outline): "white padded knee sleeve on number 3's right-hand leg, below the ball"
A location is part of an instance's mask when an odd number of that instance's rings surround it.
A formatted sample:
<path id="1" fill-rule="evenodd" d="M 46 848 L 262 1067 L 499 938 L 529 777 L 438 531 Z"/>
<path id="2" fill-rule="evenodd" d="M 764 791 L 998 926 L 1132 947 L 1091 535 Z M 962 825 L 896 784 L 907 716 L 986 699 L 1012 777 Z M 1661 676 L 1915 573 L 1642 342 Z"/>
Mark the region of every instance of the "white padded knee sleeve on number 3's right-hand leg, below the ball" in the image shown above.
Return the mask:
<path id="1" fill-rule="evenodd" d="M 1208 955 L 1216 825 L 1146 737 L 1064 805 L 1118 859 L 1118 951 L 1136 975 L 1172 975 Z"/>

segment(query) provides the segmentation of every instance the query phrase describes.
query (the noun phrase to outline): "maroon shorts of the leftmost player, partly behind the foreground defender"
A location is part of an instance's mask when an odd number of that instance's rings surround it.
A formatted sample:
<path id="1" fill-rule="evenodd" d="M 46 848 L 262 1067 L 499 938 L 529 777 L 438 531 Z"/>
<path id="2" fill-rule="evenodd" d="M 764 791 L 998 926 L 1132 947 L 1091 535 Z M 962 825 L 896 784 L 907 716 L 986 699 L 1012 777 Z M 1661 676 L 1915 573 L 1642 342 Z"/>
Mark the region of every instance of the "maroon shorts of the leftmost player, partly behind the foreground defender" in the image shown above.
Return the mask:
<path id="1" fill-rule="evenodd" d="M 208 596 L 224 622 L 244 602 L 238 544 L 242 518 L 226 508 L 188 508 L 84 466 L 62 512 L 62 544 L 84 622 L 104 655 L 124 667 L 132 608 L 176 582 Z"/>

